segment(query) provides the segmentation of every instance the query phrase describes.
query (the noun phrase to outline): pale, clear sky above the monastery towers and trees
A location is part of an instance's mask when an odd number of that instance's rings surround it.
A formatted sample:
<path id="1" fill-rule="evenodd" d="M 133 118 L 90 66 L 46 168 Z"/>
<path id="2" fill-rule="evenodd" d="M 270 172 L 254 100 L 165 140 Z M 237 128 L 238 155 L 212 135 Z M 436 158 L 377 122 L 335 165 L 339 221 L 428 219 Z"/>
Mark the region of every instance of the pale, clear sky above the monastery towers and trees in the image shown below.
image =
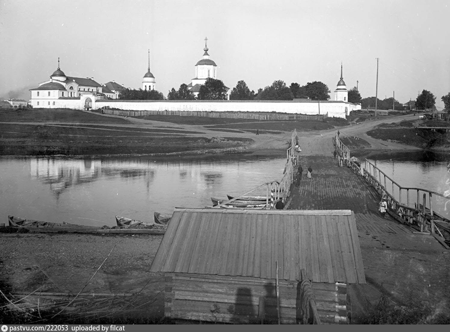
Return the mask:
<path id="1" fill-rule="evenodd" d="M 450 2 L 445 0 L 0 0 L 0 96 L 29 89 L 58 67 L 68 76 L 156 90 L 189 84 L 205 37 L 217 78 L 255 92 L 283 80 L 340 77 L 361 96 L 401 103 L 450 92 Z"/>

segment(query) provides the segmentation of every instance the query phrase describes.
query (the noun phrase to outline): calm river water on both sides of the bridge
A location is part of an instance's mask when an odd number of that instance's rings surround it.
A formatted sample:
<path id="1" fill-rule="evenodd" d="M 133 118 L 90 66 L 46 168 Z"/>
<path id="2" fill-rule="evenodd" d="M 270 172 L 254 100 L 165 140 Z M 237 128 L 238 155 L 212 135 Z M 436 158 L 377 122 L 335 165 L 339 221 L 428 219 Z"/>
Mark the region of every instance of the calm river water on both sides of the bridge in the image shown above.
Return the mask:
<path id="1" fill-rule="evenodd" d="M 449 155 L 425 152 L 366 156 L 401 186 L 444 194 Z M 361 156 L 364 167 L 364 157 Z M 285 158 L 0 158 L 0 223 L 7 216 L 114 226 L 115 216 L 153 220 L 175 207 L 211 206 L 264 182 L 281 180 Z"/>

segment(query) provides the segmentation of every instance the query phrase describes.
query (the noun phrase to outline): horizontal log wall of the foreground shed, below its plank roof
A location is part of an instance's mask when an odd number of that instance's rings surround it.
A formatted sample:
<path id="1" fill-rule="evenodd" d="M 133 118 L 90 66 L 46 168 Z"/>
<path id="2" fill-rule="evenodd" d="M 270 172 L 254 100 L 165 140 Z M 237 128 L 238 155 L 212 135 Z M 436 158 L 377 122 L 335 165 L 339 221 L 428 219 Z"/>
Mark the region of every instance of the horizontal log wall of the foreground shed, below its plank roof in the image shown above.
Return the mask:
<path id="1" fill-rule="evenodd" d="M 313 283 L 322 323 L 347 323 L 347 285 Z M 298 296 L 297 296 L 298 293 Z M 277 322 L 275 280 L 202 274 L 165 274 L 165 316 L 220 323 L 260 323 L 261 297 L 264 319 Z M 279 280 L 280 320 L 296 324 L 299 317 L 297 282 Z"/>

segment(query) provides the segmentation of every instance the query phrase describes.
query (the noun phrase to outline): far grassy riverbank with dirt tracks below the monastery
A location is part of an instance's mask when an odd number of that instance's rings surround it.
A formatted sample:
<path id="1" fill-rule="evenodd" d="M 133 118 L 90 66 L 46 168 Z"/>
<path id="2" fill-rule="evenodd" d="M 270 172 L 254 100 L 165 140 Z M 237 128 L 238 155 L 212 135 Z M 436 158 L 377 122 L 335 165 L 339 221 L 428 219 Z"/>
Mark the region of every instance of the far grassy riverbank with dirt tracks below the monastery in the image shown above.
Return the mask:
<path id="1" fill-rule="evenodd" d="M 410 145 L 415 141 L 406 136 L 402 141 L 389 139 L 387 134 L 392 128 L 380 127 L 383 123 L 408 120 L 411 115 L 383 116 L 344 125 L 348 124 L 347 120 L 333 118 L 326 122 L 156 115 L 137 119 L 75 110 L 10 110 L 0 113 L 0 155 L 284 155 L 294 128 L 302 138 L 301 145 L 307 145 L 319 135 L 331 138 L 339 129 L 341 137 L 356 137 L 361 139 L 357 143 L 364 142 L 349 146 L 354 153 L 423 148 L 449 150 L 448 146 L 437 146 L 437 142 Z M 369 136 L 366 134 L 369 131 L 377 135 Z"/>

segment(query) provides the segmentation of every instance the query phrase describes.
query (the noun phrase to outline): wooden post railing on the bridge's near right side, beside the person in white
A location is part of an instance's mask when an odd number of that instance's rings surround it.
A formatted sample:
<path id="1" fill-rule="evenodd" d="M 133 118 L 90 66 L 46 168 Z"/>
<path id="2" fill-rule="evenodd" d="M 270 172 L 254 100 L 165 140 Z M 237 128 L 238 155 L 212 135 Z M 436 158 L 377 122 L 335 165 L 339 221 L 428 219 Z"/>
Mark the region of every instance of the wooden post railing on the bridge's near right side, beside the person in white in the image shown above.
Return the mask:
<path id="1" fill-rule="evenodd" d="M 437 213 L 437 210 L 447 209 L 450 195 L 422 188 L 403 187 L 367 159 L 363 171 L 365 179 L 382 197 L 386 197 L 388 208 L 402 220 L 410 224 L 417 223 L 421 231 L 440 233 L 434 221 L 450 221 Z"/>

